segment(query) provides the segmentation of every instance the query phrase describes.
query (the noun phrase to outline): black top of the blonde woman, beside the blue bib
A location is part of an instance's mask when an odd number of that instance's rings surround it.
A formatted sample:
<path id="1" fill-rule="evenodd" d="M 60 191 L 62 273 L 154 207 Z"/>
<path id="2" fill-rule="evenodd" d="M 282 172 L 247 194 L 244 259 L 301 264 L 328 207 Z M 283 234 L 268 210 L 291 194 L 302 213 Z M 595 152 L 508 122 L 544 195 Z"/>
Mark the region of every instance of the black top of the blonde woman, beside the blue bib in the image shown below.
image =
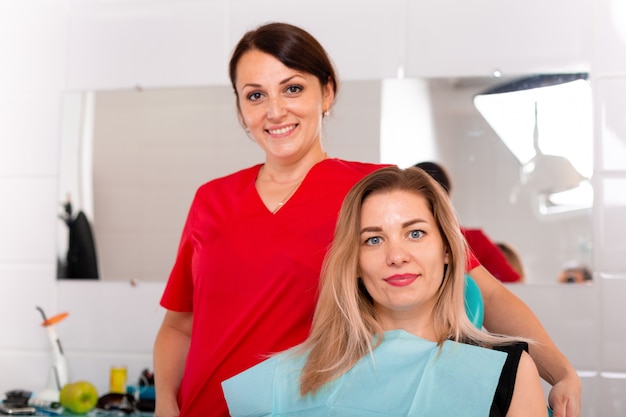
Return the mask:
<path id="1" fill-rule="evenodd" d="M 489 417 L 504 417 L 509 411 L 513 389 L 515 388 L 515 377 L 517 376 L 517 366 L 519 365 L 522 352 L 528 352 L 528 343 L 519 342 L 511 345 L 496 346 L 494 350 L 499 350 L 508 354 L 506 362 L 502 367 L 498 387 L 493 397 Z"/>

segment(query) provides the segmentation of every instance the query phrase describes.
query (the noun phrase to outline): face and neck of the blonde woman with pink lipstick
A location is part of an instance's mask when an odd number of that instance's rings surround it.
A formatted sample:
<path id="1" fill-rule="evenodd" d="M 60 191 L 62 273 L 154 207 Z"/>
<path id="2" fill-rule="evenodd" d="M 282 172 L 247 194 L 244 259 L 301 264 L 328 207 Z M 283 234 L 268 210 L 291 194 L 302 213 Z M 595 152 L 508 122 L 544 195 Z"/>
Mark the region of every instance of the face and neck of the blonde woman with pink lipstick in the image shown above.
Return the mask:
<path id="1" fill-rule="evenodd" d="M 430 334 L 432 310 L 448 254 L 426 199 L 379 192 L 361 208 L 359 268 L 385 330 Z"/>

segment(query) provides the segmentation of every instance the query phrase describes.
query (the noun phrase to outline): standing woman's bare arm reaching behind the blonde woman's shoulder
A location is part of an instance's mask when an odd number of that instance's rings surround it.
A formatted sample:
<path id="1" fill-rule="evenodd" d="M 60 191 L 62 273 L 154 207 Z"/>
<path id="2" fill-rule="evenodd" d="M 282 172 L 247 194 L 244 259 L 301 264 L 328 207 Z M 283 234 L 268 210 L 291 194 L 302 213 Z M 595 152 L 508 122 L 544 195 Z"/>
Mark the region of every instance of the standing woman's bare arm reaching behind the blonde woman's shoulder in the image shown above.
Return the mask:
<path id="1" fill-rule="evenodd" d="M 472 269 L 469 274 L 480 287 L 485 301 L 485 328 L 537 342 L 530 346 L 530 355 L 541 377 L 552 385 L 549 401 L 554 417 L 580 417 L 580 378 L 537 317 L 483 266 Z"/>

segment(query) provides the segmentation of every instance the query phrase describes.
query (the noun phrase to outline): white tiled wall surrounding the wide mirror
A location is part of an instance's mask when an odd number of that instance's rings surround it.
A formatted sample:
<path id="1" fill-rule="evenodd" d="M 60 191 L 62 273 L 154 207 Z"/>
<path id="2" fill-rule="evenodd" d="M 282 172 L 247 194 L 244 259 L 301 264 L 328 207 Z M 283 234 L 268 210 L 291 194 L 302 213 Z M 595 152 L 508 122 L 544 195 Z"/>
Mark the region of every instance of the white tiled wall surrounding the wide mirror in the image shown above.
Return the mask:
<path id="1" fill-rule="evenodd" d="M 427 13 L 432 19 L 405 20 L 401 16 L 410 15 L 402 13 L 407 3 L 412 5 L 411 13 Z M 445 75 L 482 74 L 493 65 L 510 72 L 533 69 L 533 65 L 546 70 L 546 65 L 557 65 L 553 61 L 557 55 L 546 49 L 555 43 L 563 46 L 558 56 L 568 65 L 591 63 L 596 100 L 594 185 L 599 203 L 594 208 L 597 284 L 565 292 L 531 286 L 515 291 L 581 371 L 583 415 L 624 415 L 623 2 L 577 0 L 575 6 L 560 0 L 525 2 L 525 10 L 545 12 L 541 18 L 532 15 L 528 28 L 542 34 L 538 41 L 531 37 L 532 45 L 523 42 L 527 26 L 520 33 L 509 31 L 516 27 L 517 14 L 502 9 L 502 2 L 482 0 L 474 2 L 472 9 L 461 3 L 466 5 L 461 0 L 380 1 L 368 3 L 371 6 L 357 0 L 319 0 L 298 2 L 296 9 L 287 0 L 0 1 L 0 392 L 37 389 L 44 383 L 48 340 L 39 326 L 37 305 L 49 314 L 71 310 L 57 325 L 71 371 L 93 378 L 101 389 L 106 389 L 112 362 L 126 362 L 131 376 L 150 366 L 150 346 L 162 314 L 156 307 L 159 284 L 58 285 L 54 280 L 61 93 L 137 84 L 223 83 L 226 57 L 242 30 L 260 20 L 284 18 L 310 28 L 329 45 L 340 76 L 350 80 L 393 77 L 400 64 L 413 71 L 411 76 L 433 75 L 420 73 L 428 68 Z M 448 12 L 459 7 L 463 13 L 446 20 Z M 497 19 L 472 24 L 484 13 Z M 496 30 L 489 22 L 498 22 Z M 571 24 L 570 30 L 556 30 L 564 22 Z M 412 26 L 418 23 L 419 27 Z M 564 33 L 571 36 L 557 36 Z M 422 35 L 428 35 L 427 41 L 420 41 Z M 467 39 L 482 41 L 463 46 Z M 157 43 L 159 48 L 154 47 Z M 451 55 L 442 55 L 434 47 L 437 44 L 448 45 Z M 497 59 L 506 44 L 519 48 Z M 467 53 L 475 46 L 475 54 Z M 523 60 L 518 59 L 520 54 Z M 463 59 L 454 59 L 457 55 Z M 478 62 L 483 59 L 495 64 L 481 66 Z"/>

